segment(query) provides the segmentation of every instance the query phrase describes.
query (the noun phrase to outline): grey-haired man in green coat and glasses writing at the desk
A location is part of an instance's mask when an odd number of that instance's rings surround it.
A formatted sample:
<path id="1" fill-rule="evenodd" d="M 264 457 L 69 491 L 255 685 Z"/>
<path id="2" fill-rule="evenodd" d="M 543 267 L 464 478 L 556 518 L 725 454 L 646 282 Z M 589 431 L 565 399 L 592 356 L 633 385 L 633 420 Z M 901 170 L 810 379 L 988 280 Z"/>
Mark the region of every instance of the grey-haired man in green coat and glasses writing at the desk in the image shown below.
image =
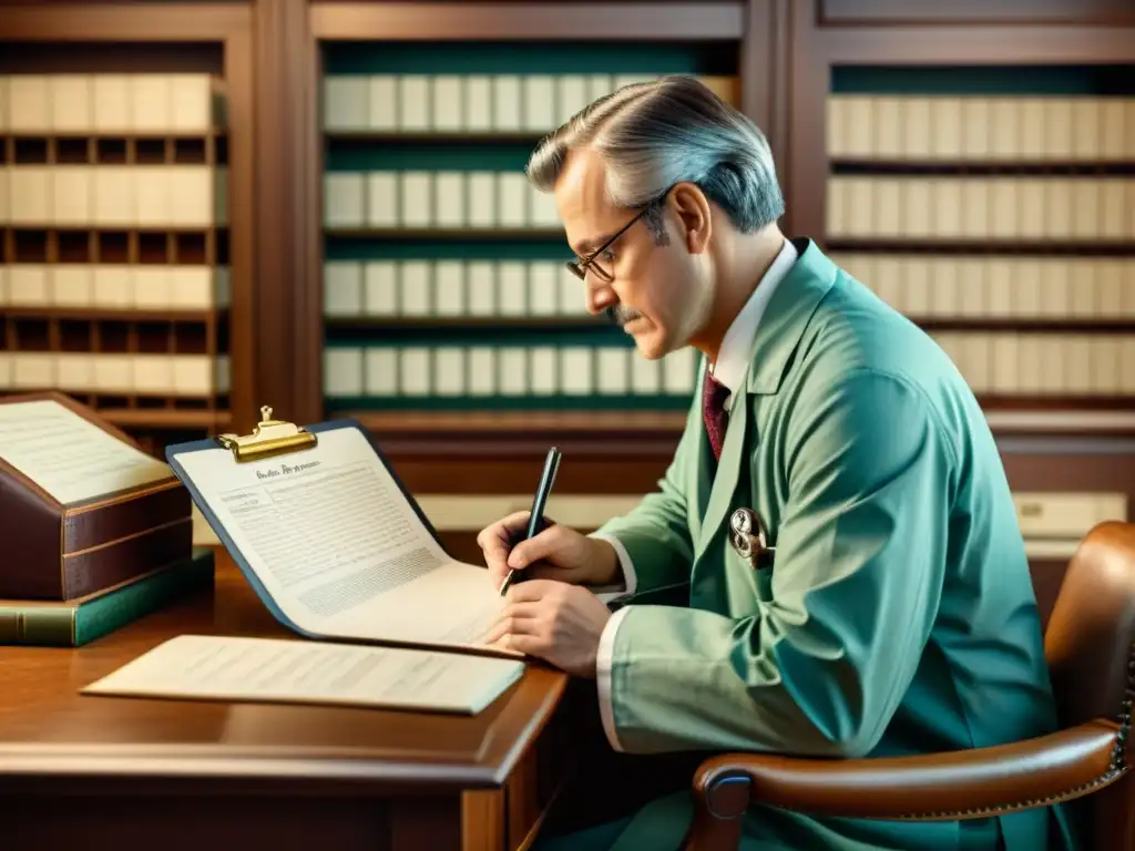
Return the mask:
<path id="1" fill-rule="evenodd" d="M 480 544 L 523 572 L 491 641 L 597 677 L 611 747 L 829 759 L 1048 733 L 1054 709 L 1009 487 L 973 394 L 919 328 L 776 226 L 768 145 L 689 78 L 621 89 L 544 140 L 592 313 L 704 355 L 673 462 L 585 537 Z M 621 583 L 612 614 L 597 595 Z M 653 596 L 679 588 L 681 605 Z M 546 846 L 676 848 L 688 791 Z M 754 808 L 753 849 L 1037 851 L 1059 810 L 886 823 Z M 1069 840 L 1070 842 L 1070 840 Z"/>

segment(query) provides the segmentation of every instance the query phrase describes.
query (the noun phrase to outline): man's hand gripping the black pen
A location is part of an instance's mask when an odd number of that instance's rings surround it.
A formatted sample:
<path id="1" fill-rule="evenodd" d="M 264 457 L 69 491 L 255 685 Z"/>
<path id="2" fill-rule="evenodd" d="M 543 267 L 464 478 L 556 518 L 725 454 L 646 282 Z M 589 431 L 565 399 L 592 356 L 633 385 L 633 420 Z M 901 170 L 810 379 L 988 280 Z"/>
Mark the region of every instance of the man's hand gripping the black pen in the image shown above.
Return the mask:
<path id="1" fill-rule="evenodd" d="M 514 546 L 524 534 L 530 513 L 510 514 L 477 536 L 495 588 L 510 570 L 523 571 L 516 579 L 552 579 L 573 585 L 609 585 L 619 580 L 614 547 L 558 523 Z"/>

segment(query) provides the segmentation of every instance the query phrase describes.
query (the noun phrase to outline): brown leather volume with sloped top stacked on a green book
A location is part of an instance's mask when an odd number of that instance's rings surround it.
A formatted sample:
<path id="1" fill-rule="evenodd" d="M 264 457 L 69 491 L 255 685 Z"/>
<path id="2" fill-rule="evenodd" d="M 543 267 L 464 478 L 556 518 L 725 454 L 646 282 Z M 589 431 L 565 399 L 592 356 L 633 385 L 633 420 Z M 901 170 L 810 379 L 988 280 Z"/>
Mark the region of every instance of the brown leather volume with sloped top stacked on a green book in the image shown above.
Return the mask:
<path id="1" fill-rule="evenodd" d="M 0 646 L 79 647 L 212 585 L 169 465 L 70 398 L 0 399 Z"/>

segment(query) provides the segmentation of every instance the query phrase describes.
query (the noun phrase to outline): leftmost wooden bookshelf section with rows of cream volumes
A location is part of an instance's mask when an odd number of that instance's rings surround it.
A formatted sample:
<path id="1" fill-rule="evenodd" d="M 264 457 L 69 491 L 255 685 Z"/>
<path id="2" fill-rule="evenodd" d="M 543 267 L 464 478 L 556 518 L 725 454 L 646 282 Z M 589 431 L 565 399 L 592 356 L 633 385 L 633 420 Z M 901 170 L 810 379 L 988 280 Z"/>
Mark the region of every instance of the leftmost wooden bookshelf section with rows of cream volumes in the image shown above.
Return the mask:
<path id="1" fill-rule="evenodd" d="M 0 391 L 159 456 L 251 420 L 250 7 L 2 15 Z"/>

